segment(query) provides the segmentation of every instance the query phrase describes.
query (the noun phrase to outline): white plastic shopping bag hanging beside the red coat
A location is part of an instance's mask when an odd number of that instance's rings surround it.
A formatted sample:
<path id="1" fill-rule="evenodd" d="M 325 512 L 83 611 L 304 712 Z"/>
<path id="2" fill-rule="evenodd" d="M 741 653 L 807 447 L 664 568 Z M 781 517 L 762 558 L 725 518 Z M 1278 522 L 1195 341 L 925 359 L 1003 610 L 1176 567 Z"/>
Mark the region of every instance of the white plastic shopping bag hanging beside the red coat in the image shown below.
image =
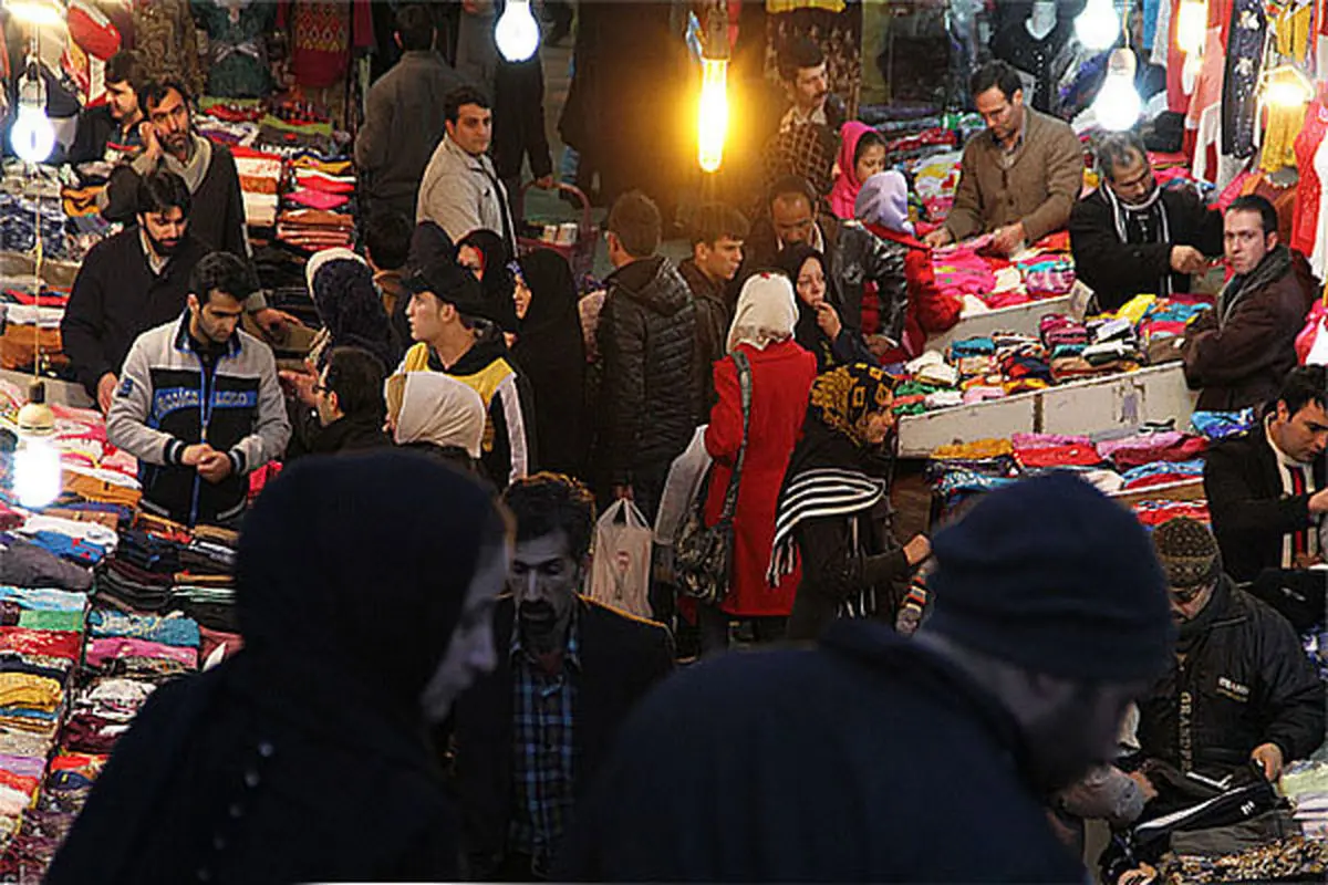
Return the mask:
<path id="1" fill-rule="evenodd" d="M 651 617 L 651 527 L 636 504 L 610 504 L 595 524 L 590 597 L 636 617 Z"/>

